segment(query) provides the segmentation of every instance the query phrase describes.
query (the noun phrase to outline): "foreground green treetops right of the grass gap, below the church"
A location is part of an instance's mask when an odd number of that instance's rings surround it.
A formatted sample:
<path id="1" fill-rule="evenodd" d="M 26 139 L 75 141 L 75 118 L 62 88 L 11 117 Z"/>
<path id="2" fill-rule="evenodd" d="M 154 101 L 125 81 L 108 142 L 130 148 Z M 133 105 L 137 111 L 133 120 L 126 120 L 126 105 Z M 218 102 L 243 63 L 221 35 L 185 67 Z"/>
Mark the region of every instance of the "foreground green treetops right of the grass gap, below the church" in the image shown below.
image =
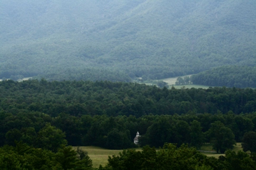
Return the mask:
<path id="1" fill-rule="evenodd" d="M 206 157 L 195 148 L 174 144 L 165 144 L 164 147 L 155 150 L 154 147 L 143 147 L 143 151 L 124 150 L 119 155 L 108 158 L 105 167 L 109 169 L 195 169 L 195 170 L 231 170 L 231 169 L 255 169 L 256 162 L 245 152 L 233 152 L 228 150 L 225 156 L 218 159 Z"/>

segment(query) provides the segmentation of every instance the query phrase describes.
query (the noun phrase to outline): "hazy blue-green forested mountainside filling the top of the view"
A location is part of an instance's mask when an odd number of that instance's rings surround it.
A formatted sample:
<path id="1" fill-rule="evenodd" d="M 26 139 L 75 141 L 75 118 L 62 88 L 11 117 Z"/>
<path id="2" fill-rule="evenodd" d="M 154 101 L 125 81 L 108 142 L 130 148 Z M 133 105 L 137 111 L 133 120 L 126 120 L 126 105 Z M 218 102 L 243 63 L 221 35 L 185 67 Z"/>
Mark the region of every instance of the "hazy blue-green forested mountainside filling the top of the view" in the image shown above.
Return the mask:
<path id="1" fill-rule="evenodd" d="M 0 0 L 0 78 L 130 81 L 253 66 L 255 8 L 252 0 Z"/>

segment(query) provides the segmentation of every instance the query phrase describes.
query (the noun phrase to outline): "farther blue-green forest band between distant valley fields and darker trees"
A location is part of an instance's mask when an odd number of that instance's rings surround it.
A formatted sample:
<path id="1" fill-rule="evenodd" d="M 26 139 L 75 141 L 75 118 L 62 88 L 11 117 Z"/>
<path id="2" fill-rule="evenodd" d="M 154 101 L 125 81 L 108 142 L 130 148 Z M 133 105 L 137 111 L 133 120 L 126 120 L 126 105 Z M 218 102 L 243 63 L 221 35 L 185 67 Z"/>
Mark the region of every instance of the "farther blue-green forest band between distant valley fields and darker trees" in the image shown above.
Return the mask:
<path id="1" fill-rule="evenodd" d="M 108 81 L 29 80 L 0 82 L 0 110 L 81 115 L 182 115 L 189 112 L 256 112 L 256 90 L 251 88 L 157 88 Z"/>

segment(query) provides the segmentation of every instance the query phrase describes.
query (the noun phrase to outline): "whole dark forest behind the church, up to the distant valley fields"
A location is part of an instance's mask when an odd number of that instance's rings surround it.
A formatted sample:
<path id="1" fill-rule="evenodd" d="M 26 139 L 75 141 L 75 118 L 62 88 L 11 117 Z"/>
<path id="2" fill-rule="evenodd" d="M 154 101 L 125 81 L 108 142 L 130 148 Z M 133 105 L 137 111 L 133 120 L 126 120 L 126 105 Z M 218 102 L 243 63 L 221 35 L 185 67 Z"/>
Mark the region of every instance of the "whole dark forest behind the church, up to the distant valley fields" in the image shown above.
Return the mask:
<path id="1" fill-rule="evenodd" d="M 256 90 L 249 88 L 167 90 L 124 82 L 6 80 L 0 82 L 0 96 L 0 145 L 17 140 L 54 152 L 67 142 L 135 147 L 137 131 L 141 145 L 154 147 L 170 142 L 200 148 L 225 139 L 214 147 L 224 152 L 256 127 Z"/>

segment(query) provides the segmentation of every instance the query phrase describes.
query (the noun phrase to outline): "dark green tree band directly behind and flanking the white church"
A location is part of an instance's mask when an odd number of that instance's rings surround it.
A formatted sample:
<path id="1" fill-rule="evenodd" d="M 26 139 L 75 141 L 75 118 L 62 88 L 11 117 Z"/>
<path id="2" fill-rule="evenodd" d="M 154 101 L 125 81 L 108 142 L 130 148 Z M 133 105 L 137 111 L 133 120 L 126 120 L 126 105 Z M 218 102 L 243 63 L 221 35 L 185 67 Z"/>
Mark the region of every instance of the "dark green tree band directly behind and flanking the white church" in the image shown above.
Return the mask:
<path id="1" fill-rule="evenodd" d="M 200 149 L 207 142 L 213 144 L 217 152 L 225 152 L 236 142 L 242 142 L 244 134 L 255 131 L 255 123 L 255 113 L 235 115 L 232 112 L 225 115 L 146 115 L 139 118 L 132 115 L 75 117 L 64 113 L 50 117 L 41 112 L 18 115 L 1 112 L 0 144 L 14 145 L 16 140 L 53 151 L 58 150 L 56 146 L 61 144 L 124 149 L 136 147 L 133 139 L 139 131 L 142 135 L 140 146 L 161 147 L 169 142 L 177 146 L 186 143 Z"/>

